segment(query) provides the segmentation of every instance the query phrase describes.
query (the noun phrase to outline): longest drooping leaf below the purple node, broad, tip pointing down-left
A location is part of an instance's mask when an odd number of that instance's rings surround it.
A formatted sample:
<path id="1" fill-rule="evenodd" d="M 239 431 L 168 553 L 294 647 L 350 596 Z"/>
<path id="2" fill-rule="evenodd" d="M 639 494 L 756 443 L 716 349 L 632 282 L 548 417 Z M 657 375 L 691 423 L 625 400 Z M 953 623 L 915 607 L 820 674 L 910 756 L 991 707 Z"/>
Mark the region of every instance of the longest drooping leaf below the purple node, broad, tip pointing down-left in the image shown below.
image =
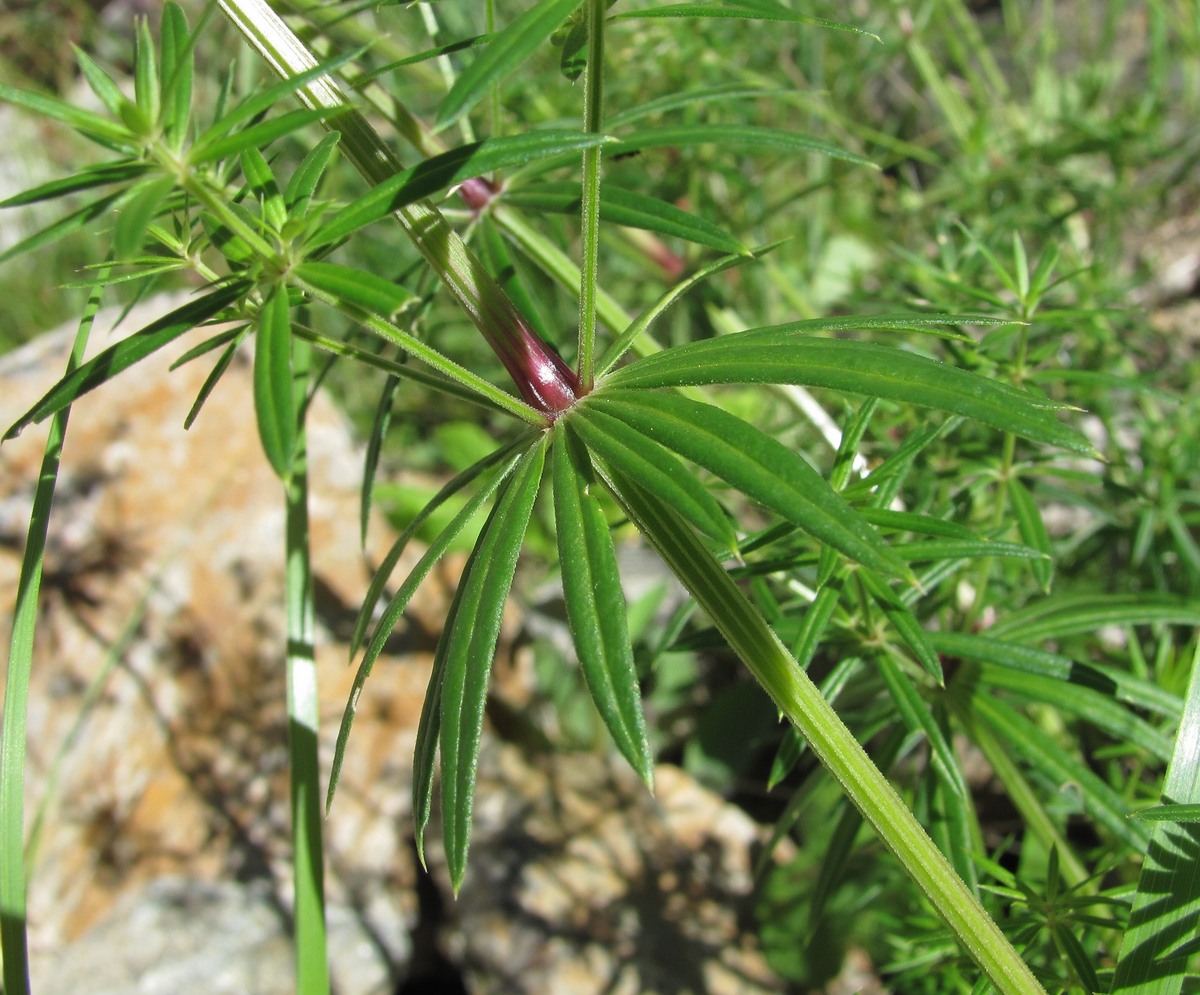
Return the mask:
<path id="1" fill-rule="evenodd" d="M 460 583 L 436 653 L 442 676 L 442 821 L 455 892 L 467 870 L 484 703 L 504 604 L 541 484 L 548 436 L 521 458 L 496 502 Z"/>

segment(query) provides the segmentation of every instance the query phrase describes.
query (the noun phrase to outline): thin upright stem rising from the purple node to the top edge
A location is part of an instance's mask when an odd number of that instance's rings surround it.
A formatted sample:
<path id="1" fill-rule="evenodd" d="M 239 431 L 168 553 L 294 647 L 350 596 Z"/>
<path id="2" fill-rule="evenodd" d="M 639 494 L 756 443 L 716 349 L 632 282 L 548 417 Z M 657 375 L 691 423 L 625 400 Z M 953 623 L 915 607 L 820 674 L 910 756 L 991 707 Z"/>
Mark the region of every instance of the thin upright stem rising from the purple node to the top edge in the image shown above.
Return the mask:
<path id="1" fill-rule="evenodd" d="M 604 125 L 605 0 L 586 0 L 588 62 L 583 70 L 583 130 L 599 133 Z M 580 276 L 580 354 L 576 368 L 583 392 L 595 380 L 596 278 L 600 257 L 600 146 L 583 150 L 581 206 L 583 271 Z"/>

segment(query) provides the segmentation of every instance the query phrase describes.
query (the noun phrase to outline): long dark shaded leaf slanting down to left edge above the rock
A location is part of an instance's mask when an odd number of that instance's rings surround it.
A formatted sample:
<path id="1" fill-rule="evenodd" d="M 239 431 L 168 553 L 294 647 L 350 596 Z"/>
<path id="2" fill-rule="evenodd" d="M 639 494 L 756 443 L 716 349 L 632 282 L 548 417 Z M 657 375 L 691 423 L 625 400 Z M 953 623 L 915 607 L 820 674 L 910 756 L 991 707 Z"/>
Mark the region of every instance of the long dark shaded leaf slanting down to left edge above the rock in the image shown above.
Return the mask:
<path id="1" fill-rule="evenodd" d="M 77 397 L 107 383 L 134 362 L 145 359 L 197 325 L 220 314 L 221 311 L 241 298 L 247 288 L 246 283 L 227 283 L 199 300 L 185 304 L 158 320 L 151 322 L 115 346 L 109 346 L 52 386 L 32 408 L 13 422 L 4 437 L 6 439 L 16 438 L 26 425 L 62 410 Z"/>

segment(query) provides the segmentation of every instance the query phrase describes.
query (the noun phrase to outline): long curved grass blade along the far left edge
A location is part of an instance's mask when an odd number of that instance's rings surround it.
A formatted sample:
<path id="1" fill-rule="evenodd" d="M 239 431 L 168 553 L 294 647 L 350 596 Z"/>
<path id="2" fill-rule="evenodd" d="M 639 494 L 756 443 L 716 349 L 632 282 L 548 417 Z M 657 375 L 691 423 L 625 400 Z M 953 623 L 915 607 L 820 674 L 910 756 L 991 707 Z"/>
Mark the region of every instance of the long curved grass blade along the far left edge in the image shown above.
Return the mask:
<path id="1" fill-rule="evenodd" d="M 100 274 L 103 280 L 107 271 Z M 76 331 L 67 373 L 83 362 L 91 325 L 103 293 L 97 287 L 88 300 Z M 4 732 L 0 738 L 0 952 L 4 955 L 4 990 L 29 993 L 29 948 L 25 922 L 25 737 L 28 733 L 29 679 L 34 667 L 34 633 L 37 628 L 37 595 L 42 586 L 50 507 L 62 460 L 71 408 L 50 419 L 42 468 L 34 491 L 25 553 L 17 582 L 17 604 L 8 645 L 8 671 L 4 697 Z"/>

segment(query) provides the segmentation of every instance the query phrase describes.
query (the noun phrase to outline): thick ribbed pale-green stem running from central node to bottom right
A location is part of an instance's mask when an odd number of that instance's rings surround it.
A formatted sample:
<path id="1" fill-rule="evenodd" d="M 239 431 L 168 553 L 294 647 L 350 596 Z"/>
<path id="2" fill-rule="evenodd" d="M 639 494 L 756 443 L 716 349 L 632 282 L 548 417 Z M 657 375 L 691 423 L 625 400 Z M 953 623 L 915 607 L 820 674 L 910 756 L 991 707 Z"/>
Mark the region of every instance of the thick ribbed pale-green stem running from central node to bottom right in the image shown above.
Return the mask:
<path id="1" fill-rule="evenodd" d="M 895 789 L 703 543 L 662 502 L 626 481 L 613 484 L 630 519 L 839 780 L 991 983 L 1006 995 L 1044 995 L 1028 966 Z"/>

